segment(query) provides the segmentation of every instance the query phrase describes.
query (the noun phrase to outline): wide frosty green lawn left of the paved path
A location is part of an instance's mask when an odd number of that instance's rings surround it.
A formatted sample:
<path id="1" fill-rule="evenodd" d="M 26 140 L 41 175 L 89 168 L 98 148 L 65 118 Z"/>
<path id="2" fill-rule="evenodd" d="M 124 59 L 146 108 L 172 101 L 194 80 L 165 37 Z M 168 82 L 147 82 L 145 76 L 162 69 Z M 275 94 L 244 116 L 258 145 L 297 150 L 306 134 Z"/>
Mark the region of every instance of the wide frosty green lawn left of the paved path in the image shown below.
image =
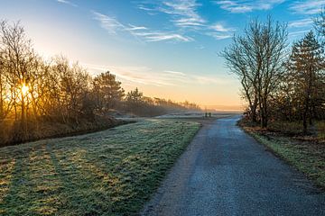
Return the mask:
<path id="1" fill-rule="evenodd" d="M 199 128 L 142 121 L 0 148 L 0 214 L 134 215 Z"/>

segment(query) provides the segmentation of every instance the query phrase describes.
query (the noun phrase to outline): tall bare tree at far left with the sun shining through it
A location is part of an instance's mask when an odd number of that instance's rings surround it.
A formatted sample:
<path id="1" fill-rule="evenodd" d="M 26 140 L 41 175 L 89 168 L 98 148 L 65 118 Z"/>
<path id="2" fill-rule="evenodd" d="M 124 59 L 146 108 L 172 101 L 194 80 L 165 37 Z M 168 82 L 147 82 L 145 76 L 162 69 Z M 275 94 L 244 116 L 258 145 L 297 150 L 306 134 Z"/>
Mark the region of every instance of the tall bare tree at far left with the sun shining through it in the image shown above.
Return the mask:
<path id="1" fill-rule="evenodd" d="M 26 38 L 20 23 L 8 25 L 1 23 L 0 38 L 2 64 L 7 68 L 6 80 L 10 85 L 15 106 L 20 106 L 20 121 L 23 131 L 26 127 L 26 118 L 29 98 L 29 82 L 33 77 L 37 55 L 32 49 L 31 41 Z"/>

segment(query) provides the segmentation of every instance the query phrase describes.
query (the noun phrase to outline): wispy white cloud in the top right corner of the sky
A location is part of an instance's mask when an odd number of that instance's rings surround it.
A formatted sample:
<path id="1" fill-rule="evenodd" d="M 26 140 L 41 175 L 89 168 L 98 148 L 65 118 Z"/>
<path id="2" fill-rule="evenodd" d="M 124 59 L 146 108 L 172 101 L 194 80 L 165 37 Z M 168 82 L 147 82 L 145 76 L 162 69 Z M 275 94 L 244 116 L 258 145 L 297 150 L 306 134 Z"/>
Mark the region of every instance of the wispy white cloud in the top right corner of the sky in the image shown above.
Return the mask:
<path id="1" fill-rule="evenodd" d="M 291 4 L 290 9 L 295 14 L 318 14 L 324 5 L 325 0 L 300 0 Z"/>

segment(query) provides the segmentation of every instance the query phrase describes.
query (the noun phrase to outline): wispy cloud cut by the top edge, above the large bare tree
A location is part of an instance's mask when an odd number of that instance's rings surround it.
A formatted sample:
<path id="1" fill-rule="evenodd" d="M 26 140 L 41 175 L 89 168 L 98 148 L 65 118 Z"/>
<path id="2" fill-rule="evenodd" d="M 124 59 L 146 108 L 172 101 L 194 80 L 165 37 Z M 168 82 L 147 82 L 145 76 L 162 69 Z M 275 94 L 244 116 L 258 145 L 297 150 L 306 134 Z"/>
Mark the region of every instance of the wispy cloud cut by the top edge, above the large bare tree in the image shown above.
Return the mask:
<path id="1" fill-rule="evenodd" d="M 285 0 L 220 0 L 215 1 L 221 9 L 234 14 L 242 14 L 257 10 L 271 10 Z"/>

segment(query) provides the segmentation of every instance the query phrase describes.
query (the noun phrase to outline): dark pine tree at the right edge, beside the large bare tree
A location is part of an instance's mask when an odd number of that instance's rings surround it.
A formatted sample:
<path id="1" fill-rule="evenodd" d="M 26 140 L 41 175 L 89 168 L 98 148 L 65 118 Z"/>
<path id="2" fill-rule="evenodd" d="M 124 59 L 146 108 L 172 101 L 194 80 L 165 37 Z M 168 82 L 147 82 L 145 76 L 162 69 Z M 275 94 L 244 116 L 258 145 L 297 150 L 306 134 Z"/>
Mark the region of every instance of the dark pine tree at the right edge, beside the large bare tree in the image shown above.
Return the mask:
<path id="1" fill-rule="evenodd" d="M 300 100 L 303 133 L 307 133 L 308 120 L 312 121 L 315 108 L 321 105 L 323 88 L 324 50 L 312 31 L 292 46 L 289 69 L 294 79 L 294 90 Z"/>

